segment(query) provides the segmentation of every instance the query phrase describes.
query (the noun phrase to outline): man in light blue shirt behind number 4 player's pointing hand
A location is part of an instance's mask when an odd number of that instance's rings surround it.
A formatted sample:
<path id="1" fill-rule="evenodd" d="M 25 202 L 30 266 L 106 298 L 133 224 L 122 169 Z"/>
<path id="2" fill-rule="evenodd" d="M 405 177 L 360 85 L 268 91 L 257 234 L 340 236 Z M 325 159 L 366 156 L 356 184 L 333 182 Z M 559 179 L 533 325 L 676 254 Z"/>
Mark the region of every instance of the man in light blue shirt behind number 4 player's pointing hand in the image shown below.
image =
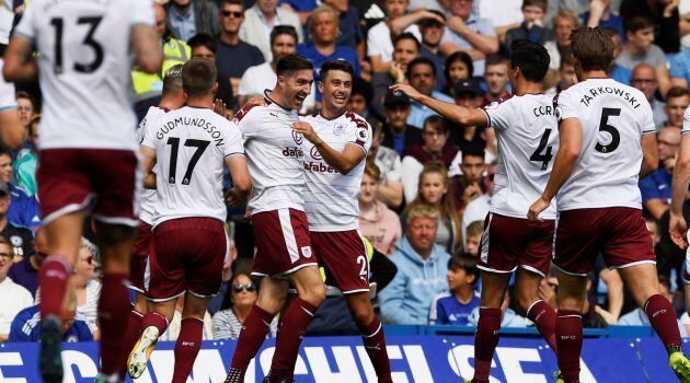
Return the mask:
<path id="1" fill-rule="evenodd" d="M 419 93 L 447 103 L 452 103 L 450 96 L 434 91 L 434 84 L 436 84 L 436 67 L 428 58 L 417 57 L 407 65 L 407 80 L 410 81 L 410 85 Z M 407 125 L 422 129 L 424 121 L 430 116 L 438 116 L 438 114 L 428 106 L 413 102 L 412 113 L 410 117 L 407 117 Z"/>

